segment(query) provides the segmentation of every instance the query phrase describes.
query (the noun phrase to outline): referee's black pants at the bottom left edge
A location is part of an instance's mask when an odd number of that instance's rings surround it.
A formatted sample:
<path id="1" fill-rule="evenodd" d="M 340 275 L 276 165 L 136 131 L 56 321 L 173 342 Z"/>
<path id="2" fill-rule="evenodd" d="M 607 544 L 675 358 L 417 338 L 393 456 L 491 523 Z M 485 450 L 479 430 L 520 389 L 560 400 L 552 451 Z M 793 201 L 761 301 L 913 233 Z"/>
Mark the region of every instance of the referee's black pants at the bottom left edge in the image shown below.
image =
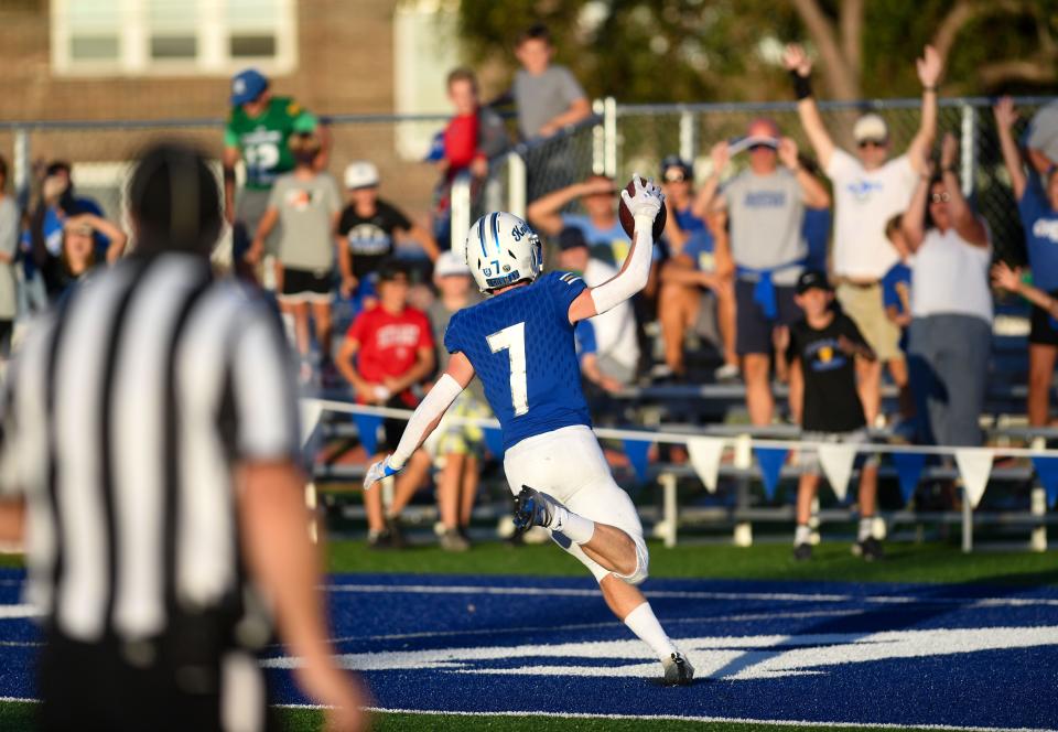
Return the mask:
<path id="1" fill-rule="evenodd" d="M 209 663 L 173 663 L 164 644 L 130 647 L 118 639 L 82 643 L 48 633 L 41 652 L 37 728 L 52 730 L 220 731 L 222 709 L 238 706 L 260 720 L 258 730 L 276 730 L 268 689 L 257 659 L 244 658 L 245 675 L 260 693 L 239 693 L 228 683 L 222 656 Z M 238 652 L 240 654 L 245 652 Z M 137 666 L 133 658 L 151 658 Z M 240 686 L 240 685 L 239 685 Z"/>

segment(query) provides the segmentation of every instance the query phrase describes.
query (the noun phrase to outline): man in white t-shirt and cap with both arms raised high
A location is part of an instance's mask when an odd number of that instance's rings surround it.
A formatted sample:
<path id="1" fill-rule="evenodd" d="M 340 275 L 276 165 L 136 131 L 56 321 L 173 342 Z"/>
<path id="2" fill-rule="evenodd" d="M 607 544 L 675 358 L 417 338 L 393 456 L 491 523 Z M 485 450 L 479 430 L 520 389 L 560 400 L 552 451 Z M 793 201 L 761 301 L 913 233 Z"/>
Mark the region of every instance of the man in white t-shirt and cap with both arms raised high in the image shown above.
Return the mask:
<path id="1" fill-rule="evenodd" d="M 855 322 L 878 359 L 856 360 L 860 398 L 867 424 L 874 424 L 882 406 L 882 364 L 893 380 L 907 385 L 907 364 L 899 349 L 899 330 L 885 316 L 882 304 L 882 278 L 899 261 L 899 255 L 885 236 L 885 224 L 907 208 L 918 176 L 926 173 L 924 160 L 937 134 L 937 82 L 940 55 L 926 46 L 917 64 L 922 83 L 922 117 L 907 152 L 889 159 L 889 131 L 878 115 L 856 120 L 853 138 L 856 154 L 834 144 L 823 126 L 812 97 L 812 64 L 805 51 L 790 45 L 784 57 L 794 78 L 797 111 L 816 157 L 834 186 L 833 274 L 838 300 Z"/>

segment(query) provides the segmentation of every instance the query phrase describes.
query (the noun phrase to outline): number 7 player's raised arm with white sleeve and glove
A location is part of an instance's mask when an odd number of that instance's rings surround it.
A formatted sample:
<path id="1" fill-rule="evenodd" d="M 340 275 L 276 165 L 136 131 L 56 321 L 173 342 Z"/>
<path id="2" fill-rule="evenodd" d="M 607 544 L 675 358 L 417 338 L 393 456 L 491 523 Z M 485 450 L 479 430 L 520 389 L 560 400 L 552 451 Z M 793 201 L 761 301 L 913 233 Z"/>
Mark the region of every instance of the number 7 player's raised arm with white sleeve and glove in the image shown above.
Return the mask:
<path id="1" fill-rule="evenodd" d="M 627 191 L 620 192 L 620 197 L 636 222 L 631 249 L 616 277 L 596 288 L 584 290 L 570 304 L 571 323 L 593 317 L 619 305 L 645 288 L 650 278 L 654 219 L 665 205 L 665 194 L 654 181 L 643 183 L 639 175 L 633 175 L 631 180 L 635 181 L 635 195 L 628 195 Z"/>

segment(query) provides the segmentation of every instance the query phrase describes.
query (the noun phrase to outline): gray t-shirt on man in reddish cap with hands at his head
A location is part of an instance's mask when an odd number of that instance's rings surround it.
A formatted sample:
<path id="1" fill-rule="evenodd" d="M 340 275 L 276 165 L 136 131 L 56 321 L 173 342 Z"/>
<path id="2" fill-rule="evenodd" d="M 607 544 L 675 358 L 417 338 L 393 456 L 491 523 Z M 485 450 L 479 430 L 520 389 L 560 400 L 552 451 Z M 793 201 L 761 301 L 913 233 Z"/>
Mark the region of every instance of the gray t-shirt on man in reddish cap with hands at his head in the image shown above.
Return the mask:
<path id="1" fill-rule="evenodd" d="M 724 186 L 731 217 L 731 255 L 735 265 L 775 269 L 777 284 L 794 284 L 808 256 L 801 235 L 805 204 L 797 177 L 786 168 L 770 175 L 746 170 Z"/>

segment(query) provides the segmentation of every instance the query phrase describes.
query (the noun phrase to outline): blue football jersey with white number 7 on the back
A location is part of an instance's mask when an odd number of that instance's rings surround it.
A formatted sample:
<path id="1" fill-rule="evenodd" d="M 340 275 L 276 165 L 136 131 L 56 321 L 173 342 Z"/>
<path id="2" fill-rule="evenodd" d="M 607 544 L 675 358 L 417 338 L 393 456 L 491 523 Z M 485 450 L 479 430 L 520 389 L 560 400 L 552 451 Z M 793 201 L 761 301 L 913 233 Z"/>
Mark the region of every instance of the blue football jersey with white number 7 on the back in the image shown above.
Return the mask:
<path id="1" fill-rule="evenodd" d="M 585 287 L 572 272 L 548 272 L 449 322 L 444 347 L 471 359 L 499 419 L 505 450 L 535 434 L 592 423 L 569 316 Z"/>

